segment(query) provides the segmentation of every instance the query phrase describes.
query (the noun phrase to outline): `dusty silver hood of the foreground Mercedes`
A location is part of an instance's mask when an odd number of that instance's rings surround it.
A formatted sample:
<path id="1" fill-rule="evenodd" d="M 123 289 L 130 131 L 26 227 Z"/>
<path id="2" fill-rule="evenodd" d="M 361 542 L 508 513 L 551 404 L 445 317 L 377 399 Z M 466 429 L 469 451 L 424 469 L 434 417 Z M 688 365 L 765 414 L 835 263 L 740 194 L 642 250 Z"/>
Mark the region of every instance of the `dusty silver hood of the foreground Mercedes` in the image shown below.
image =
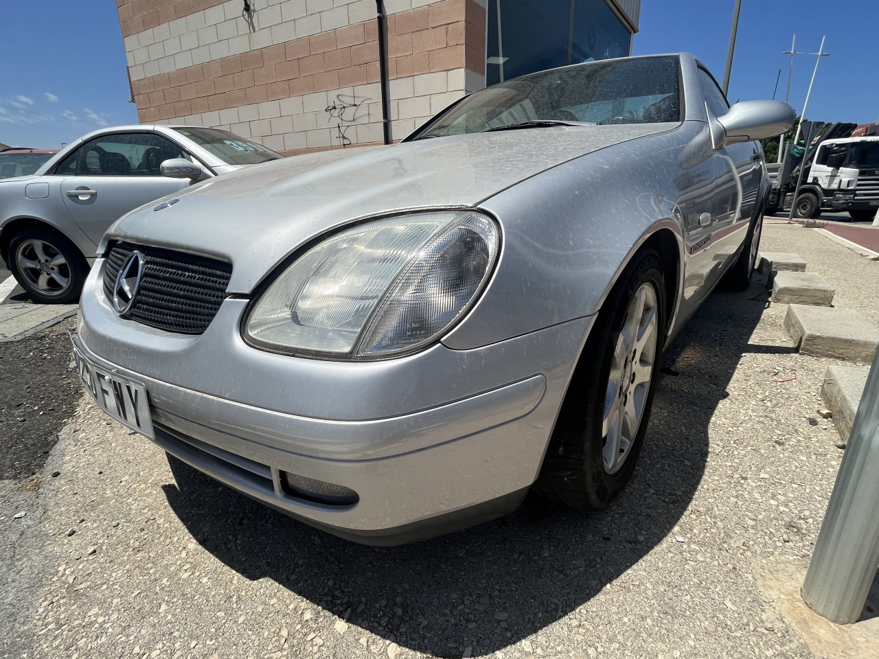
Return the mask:
<path id="1" fill-rule="evenodd" d="M 529 128 L 295 156 L 194 185 L 172 206 L 142 206 L 99 251 L 118 239 L 220 257 L 233 264 L 228 292 L 251 293 L 328 229 L 403 209 L 476 206 L 558 164 L 674 126 Z"/>

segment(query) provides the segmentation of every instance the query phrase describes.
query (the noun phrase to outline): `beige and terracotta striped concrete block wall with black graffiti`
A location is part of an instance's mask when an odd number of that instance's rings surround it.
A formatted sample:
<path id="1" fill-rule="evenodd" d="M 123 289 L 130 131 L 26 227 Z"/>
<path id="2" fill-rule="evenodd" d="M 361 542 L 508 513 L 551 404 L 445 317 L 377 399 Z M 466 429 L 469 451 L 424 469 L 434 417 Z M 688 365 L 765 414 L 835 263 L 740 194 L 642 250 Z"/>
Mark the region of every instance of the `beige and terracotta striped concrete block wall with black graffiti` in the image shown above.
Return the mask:
<path id="1" fill-rule="evenodd" d="M 399 140 L 484 86 L 486 0 L 386 0 Z M 381 142 L 374 0 L 117 0 L 142 123 L 223 127 L 287 154 Z"/>

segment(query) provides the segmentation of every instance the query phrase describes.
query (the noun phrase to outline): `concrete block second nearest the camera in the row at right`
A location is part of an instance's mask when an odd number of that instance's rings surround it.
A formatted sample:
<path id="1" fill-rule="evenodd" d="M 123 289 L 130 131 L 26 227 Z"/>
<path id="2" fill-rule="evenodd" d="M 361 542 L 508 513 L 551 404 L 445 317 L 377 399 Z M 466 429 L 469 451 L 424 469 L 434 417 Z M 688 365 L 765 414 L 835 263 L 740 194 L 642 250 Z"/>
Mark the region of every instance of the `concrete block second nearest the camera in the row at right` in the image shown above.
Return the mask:
<path id="1" fill-rule="evenodd" d="M 879 344 L 879 329 L 852 309 L 792 304 L 784 327 L 804 355 L 869 364 Z"/>

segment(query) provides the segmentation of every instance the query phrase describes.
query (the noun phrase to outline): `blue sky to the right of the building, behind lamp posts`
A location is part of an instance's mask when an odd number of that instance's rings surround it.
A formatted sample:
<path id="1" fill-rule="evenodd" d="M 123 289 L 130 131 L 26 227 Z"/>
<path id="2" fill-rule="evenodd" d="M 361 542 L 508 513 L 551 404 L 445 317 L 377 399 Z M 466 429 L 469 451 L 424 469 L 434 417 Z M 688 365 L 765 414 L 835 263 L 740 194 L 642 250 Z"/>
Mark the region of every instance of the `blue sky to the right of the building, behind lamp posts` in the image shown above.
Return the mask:
<path id="1" fill-rule="evenodd" d="M 641 32 L 635 35 L 632 54 L 687 51 L 698 57 L 723 81 L 734 0 L 642 0 Z M 730 75 L 730 102 L 737 99 L 784 100 L 788 85 L 790 42 L 796 50 L 790 83 L 790 105 L 797 114 L 815 69 L 821 37 L 825 52 L 812 87 L 807 119 L 854 121 L 866 124 L 879 117 L 879 2 L 847 0 L 742 0 L 736 52 Z"/>

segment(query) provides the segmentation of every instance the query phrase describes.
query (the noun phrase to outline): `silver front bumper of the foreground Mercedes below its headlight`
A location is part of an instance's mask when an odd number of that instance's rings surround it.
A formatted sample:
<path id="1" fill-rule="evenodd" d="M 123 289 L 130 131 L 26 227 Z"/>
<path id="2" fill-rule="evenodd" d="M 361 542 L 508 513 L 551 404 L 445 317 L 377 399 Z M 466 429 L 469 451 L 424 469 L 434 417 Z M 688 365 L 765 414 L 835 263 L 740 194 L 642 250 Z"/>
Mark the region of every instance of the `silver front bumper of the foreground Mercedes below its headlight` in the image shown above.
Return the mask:
<path id="1" fill-rule="evenodd" d="M 385 362 L 320 362 L 243 344 L 246 301 L 224 302 L 199 337 L 122 321 L 103 300 L 98 271 L 84 291 L 76 346 L 145 385 L 156 444 L 262 503 L 368 544 L 419 540 L 518 506 L 592 322 L 470 351 L 436 345 Z M 295 395 L 304 379 L 318 396 Z M 381 404 L 369 414 L 364 404 L 374 400 Z M 305 500 L 284 487 L 286 474 L 344 486 L 359 500 Z"/>

